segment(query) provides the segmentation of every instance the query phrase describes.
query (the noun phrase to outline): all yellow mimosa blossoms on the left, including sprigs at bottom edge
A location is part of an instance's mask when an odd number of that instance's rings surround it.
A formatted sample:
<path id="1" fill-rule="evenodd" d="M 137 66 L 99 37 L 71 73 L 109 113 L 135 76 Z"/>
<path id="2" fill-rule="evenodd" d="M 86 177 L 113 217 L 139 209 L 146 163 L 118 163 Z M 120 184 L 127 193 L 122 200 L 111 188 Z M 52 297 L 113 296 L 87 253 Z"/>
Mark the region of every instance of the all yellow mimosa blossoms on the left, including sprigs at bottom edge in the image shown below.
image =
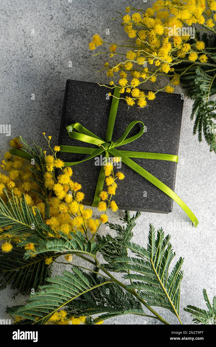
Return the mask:
<path id="1" fill-rule="evenodd" d="M 60 146 L 52 148 L 50 144 L 52 137 L 46 136 L 45 133 L 43 135 L 50 151 L 48 154 L 47 151 L 42 152 L 41 149 L 43 169 L 37 163 L 33 165 L 34 169 L 32 169 L 29 161 L 11 154 L 10 151 L 5 153 L 5 158 L 1 161 L 0 198 L 6 205 L 8 199 L 12 201 L 13 197 L 16 198 L 18 204 L 25 202 L 33 215 L 39 211 L 44 223 L 53 231 L 52 234 L 47 232 L 47 239 L 62 238 L 63 235 L 64 238 L 70 240 L 72 235 L 80 231 L 87 242 L 94 242 L 100 226 L 108 221 L 107 210 L 109 208 L 112 211 L 118 210 L 113 196 L 117 188 L 116 182 L 124 179 L 124 174 L 120 171 L 114 173 L 113 164 L 119 162 L 120 158 L 115 157 L 111 161 L 108 157 L 107 164 L 104 166 L 106 189 L 100 193 L 101 201 L 98 204 L 98 211 L 101 214 L 99 218 L 93 218 L 93 210 L 84 207 L 85 194 L 82 192 L 81 184 L 72 180 L 71 167 L 64 167 L 64 162 L 57 158 Z M 17 150 L 23 148 L 19 138 L 11 140 L 10 145 Z M 56 175 L 56 169 L 60 170 L 60 174 Z M 41 179 L 38 180 L 38 177 Z M 45 214 L 46 204 L 49 204 L 49 218 Z M 31 253 L 31 257 L 35 257 L 37 244 L 27 242 L 28 233 L 23 232 L 23 235 L 17 238 L 10 235 L 11 228 L 10 225 L 0 228 L 0 238 L 4 240 L 1 244 L 1 251 L 6 254 L 10 253 L 24 242 L 23 248 Z M 46 257 L 45 265 L 52 264 L 55 259 L 56 257 L 53 256 Z M 72 255 L 65 255 L 65 259 L 71 263 Z M 54 313 L 50 318 L 50 323 L 80 324 L 85 323 L 85 317 L 67 318 L 66 312 L 61 310 Z"/>

